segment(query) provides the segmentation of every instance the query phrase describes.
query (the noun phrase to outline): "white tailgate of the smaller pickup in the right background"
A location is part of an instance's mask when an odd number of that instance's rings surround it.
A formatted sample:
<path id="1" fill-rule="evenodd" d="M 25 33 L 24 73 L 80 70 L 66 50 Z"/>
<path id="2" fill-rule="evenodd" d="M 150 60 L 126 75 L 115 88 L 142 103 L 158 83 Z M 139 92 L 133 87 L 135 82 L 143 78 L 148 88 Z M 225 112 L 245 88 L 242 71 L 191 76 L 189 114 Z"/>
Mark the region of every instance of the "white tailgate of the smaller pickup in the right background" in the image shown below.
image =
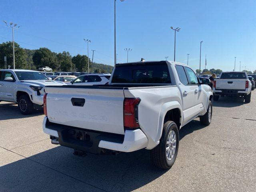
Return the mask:
<path id="1" fill-rule="evenodd" d="M 246 79 L 217 79 L 216 89 L 245 90 Z"/>

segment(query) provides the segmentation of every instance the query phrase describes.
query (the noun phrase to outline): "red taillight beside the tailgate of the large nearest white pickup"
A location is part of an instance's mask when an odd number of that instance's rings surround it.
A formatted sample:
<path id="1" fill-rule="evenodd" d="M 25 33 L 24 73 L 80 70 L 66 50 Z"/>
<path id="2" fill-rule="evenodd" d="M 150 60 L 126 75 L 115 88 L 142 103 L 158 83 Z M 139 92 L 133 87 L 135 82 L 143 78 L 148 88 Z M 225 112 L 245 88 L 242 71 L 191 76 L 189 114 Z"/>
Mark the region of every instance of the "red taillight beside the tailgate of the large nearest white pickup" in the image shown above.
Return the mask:
<path id="1" fill-rule="evenodd" d="M 138 104 L 140 98 L 124 99 L 124 128 L 137 129 L 140 127 L 138 123 Z"/>

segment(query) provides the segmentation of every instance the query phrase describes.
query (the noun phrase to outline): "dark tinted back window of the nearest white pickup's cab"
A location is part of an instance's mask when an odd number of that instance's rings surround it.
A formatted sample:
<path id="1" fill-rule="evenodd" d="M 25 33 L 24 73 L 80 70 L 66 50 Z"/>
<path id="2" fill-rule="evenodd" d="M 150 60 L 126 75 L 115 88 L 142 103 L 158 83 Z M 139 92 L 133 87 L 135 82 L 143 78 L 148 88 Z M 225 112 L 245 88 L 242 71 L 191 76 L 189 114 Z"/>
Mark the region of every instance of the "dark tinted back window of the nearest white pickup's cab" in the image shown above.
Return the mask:
<path id="1" fill-rule="evenodd" d="M 170 84 L 166 62 L 116 66 L 112 83 Z"/>

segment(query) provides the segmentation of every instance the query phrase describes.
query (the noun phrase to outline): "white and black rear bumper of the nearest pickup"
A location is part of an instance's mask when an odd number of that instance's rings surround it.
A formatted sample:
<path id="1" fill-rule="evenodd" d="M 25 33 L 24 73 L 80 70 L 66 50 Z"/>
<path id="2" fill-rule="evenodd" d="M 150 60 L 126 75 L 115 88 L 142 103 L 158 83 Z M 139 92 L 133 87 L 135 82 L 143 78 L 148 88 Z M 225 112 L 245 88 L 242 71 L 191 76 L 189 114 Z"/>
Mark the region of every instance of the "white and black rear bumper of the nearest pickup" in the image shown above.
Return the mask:
<path id="1" fill-rule="evenodd" d="M 148 139 L 140 129 L 126 130 L 124 135 L 111 134 L 50 123 L 48 118 L 44 117 L 43 131 L 54 136 L 62 146 L 94 154 L 101 154 L 104 149 L 132 152 L 148 145 Z"/>

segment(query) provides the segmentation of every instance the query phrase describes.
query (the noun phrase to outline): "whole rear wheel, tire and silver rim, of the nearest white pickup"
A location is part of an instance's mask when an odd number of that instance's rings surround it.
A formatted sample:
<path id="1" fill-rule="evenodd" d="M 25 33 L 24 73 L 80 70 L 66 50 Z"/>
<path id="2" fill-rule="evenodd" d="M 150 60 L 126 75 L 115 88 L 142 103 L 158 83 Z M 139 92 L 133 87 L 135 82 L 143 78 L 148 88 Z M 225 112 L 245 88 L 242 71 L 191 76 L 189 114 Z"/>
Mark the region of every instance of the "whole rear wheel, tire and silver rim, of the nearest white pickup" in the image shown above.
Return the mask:
<path id="1" fill-rule="evenodd" d="M 170 169 L 174 164 L 179 148 L 179 131 L 175 122 L 167 121 L 160 143 L 150 150 L 150 158 L 155 166 L 161 169 Z"/>

